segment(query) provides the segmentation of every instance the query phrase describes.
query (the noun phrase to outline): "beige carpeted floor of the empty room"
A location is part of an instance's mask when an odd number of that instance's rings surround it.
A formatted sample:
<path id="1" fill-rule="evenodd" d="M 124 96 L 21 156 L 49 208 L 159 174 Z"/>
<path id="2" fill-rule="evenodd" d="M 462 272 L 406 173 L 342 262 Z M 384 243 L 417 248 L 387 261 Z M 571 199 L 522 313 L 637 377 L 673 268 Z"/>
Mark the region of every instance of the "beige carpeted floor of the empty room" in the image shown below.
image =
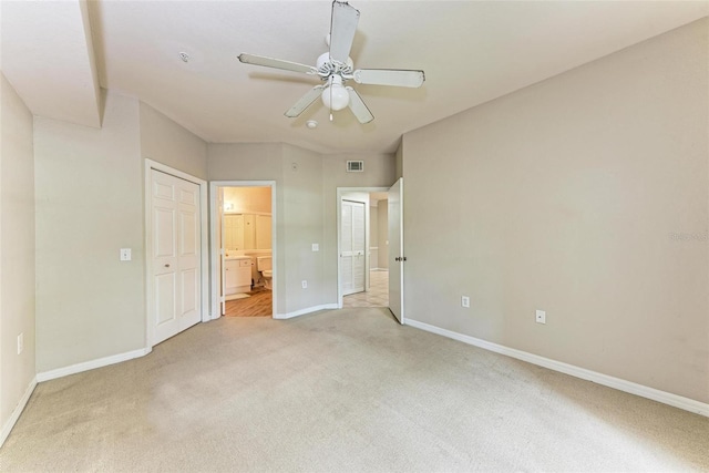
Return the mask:
<path id="1" fill-rule="evenodd" d="M 709 419 L 395 323 L 222 318 L 37 387 L 0 471 L 709 470 Z"/>

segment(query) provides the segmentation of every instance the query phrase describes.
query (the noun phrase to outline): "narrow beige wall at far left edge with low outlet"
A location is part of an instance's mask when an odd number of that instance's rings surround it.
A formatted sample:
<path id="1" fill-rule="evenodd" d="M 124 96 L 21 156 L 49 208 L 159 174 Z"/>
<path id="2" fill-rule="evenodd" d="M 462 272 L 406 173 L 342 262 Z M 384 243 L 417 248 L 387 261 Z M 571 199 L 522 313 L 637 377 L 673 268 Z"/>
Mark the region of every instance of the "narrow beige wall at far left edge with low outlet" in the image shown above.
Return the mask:
<path id="1" fill-rule="evenodd" d="M 32 114 L 0 72 L 0 428 L 34 379 Z M 18 335 L 24 349 L 17 352 Z"/>

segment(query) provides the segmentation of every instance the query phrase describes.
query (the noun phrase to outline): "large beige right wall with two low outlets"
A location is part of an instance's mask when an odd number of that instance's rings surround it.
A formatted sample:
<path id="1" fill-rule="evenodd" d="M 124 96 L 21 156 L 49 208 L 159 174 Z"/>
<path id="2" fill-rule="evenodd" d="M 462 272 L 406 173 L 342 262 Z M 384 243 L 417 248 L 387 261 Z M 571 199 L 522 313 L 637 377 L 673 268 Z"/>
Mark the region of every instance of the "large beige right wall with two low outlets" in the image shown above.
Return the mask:
<path id="1" fill-rule="evenodd" d="M 407 317 L 709 402 L 707 31 L 408 133 Z"/>

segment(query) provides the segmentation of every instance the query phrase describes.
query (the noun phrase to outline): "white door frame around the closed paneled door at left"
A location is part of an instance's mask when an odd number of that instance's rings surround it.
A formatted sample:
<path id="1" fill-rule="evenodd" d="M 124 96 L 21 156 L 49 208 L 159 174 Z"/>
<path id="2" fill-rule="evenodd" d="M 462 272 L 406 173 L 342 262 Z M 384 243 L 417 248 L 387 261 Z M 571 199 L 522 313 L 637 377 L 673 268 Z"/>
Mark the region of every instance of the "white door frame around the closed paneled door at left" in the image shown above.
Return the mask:
<path id="1" fill-rule="evenodd" d="M 208 215 L 207 212 L 207 182 L 191 174 L 175 169 L 174 167 L 158 163 L 156 161 L 145 158 L 144 178 L 145 187 L 143 200 L 145 204 L 145 348 L 152 349 L 153 343 L 153 319 L 151 317 L 151 307 L 153 307 L 153 199 L 152 196 L 152 171 L 169 174 L 179 177 L 199 186 L 199 270 L 201 288 L 199 288 L 199 318 L 203 322 L 209 321 L 209 235 L 208 235 Z"/>

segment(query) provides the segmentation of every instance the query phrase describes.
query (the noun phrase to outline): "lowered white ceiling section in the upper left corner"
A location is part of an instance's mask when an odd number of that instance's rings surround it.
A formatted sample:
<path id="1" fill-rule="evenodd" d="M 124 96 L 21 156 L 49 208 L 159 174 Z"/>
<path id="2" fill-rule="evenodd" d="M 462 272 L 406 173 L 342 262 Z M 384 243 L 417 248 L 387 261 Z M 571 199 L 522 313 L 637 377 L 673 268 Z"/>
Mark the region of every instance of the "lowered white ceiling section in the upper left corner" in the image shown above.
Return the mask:
<path id="1" fill-rule="evenodd" d="M 6 1 L 2 72 L 35 115 L 100 126 L 89 12 L 78 1 Z"/>

